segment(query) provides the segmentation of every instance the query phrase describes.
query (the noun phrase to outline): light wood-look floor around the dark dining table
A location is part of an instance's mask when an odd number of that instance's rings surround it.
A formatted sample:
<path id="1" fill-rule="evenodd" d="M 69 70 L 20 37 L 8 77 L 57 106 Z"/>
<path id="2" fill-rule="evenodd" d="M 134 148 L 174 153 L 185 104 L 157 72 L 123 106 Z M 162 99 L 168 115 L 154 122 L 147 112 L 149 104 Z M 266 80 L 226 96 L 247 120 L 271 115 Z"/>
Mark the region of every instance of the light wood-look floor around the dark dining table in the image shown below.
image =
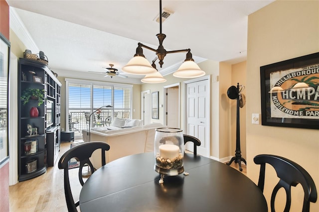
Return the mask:
<path id="1" fill-rule="evenodd" d="M 61 143 L 58 159 L 70 148 L 71 143 L 73 142 Z M 238 170 L 238 164 L 233 162 L 230 166 Z M 242 168 L 242 173 L 246 175 L 246 166 L 242 165 Z M 73 196 L 78 199 L 82 187 L 78 182 L 77 169 L 71 170 L 70 178 L 74 179 L 71 182 Z M 63 170 L 58 169 L 57 161 L 43 175 L 10 186 L 9 200 L 10 212 L 67 212 Z"/>

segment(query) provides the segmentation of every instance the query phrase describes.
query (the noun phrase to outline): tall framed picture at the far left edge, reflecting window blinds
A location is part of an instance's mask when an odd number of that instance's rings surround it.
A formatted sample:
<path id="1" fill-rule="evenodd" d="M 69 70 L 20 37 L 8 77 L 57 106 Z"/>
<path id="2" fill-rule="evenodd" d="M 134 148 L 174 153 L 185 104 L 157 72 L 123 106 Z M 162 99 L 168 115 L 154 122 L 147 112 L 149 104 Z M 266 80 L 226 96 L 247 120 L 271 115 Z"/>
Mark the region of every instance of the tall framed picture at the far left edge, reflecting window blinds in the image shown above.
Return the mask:
<path id="1" fill-rule="evenodd" d="M 0 167 L 9 159 L 8 74 L 10 42 L 0 33 Z"/>

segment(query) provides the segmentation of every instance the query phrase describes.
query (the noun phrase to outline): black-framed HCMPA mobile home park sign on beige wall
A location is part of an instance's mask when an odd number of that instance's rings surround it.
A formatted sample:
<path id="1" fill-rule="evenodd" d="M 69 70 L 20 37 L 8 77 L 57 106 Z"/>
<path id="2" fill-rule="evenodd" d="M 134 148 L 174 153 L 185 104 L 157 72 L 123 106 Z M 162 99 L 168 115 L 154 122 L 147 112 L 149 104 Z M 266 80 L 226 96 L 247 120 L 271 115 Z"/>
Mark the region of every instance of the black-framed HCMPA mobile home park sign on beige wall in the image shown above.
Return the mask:
<path id="1" fill-rule="evenodd" d="M 260 67 L 262 125 L 319 129 L 319 52 Z"/>

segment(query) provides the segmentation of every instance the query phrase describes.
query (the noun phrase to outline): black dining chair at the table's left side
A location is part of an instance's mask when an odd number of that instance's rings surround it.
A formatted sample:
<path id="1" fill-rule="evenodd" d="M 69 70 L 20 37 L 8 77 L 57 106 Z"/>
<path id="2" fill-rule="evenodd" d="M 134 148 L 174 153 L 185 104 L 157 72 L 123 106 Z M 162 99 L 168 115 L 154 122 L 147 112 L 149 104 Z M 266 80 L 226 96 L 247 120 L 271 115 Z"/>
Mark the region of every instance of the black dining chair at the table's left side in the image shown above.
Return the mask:
<path id="1" fill-rule="evenodd" d="M 77 161 L 80 162 L 79 166 L 79 181 L 81 185 L 83 186 L 83 176 L 82 176 L 82 169 L 85 164 L 87 164 L 91 168 L 91 172 L 94 172 L 94 167 L 90 161 L 90 157 L 92 153 L 97 150 L 101 149 L 102 151 L 102 165 L 105 165 L 105 151 L 108 151 L 110 149 L 109 144 L 99 141 L 94 142 L 88 142 L 79 144 L 68 151 L 66 151 L 60 158 L 58 167 L 59 169 L 64 169 L 64 194 L 65 194 L 65 200 L 66 205 L 68 207 L 69 212 L 77 212 L 76 207 L 79 206 L 79 201 L 74 203 L 74 199 L 71 192 L 70 187 L 70 179 L 69 179 L 69 166 L 68 161 L 70 159 L 75 158 Z"/>

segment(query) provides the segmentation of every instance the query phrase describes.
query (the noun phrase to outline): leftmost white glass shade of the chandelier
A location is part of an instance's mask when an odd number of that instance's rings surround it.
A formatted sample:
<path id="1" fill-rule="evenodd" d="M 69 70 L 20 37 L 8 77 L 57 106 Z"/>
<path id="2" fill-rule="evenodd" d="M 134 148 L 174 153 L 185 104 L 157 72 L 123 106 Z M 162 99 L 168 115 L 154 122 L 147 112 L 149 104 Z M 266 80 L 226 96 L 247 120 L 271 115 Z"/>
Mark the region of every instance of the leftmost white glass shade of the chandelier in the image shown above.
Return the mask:
<path id="1" fill-rule="evenodd" d="M 150 62 L 142 56 L 133 57 L 122 70 L 128 74 L 147 75 L 157 72 Z"/>

